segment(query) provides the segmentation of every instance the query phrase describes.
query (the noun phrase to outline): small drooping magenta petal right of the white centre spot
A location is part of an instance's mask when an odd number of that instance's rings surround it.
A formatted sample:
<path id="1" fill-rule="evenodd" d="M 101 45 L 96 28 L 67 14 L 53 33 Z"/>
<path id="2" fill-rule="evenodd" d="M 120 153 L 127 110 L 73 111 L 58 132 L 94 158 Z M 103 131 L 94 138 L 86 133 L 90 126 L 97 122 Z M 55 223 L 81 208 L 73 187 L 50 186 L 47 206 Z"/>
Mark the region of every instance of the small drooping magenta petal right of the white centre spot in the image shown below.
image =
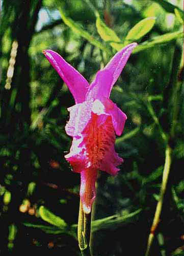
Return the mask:
<path id="1" fill-rule="evenodd" d="M 111 115 L 114 130 L 118 136 L 120 136 L 124 129 L 124 124 L 127 119 L 126 115 L 117 107 L 117 105 L 110 99 L 102 98 L 101 102 L 105 107 L 105 112 Z"/>

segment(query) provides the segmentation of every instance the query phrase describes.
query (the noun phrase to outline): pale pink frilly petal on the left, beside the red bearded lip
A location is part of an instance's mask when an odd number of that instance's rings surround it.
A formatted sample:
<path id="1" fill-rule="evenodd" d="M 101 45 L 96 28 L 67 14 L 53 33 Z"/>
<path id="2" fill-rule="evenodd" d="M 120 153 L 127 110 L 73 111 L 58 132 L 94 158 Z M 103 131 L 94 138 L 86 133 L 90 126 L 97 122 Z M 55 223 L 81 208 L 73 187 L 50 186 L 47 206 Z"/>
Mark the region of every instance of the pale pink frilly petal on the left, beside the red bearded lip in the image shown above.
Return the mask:
<path id="1" fill-rule="evenodd" d="M 91 118 L 91 108 L 92 102 L 86 101 L 68 108 L 70 119 L 65 126 L 65 130 L 69 136 L 74 137 L 83 132 Z"/>

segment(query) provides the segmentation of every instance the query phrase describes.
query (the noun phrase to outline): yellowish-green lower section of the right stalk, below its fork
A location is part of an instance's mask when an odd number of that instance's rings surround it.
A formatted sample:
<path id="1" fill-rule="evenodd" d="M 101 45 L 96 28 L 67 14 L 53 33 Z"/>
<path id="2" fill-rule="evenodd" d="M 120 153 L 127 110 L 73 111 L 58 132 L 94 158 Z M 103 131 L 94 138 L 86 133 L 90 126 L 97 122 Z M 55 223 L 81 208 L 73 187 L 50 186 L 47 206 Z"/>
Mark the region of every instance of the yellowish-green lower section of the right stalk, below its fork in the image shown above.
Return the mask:
<path id="1" fill-rule="evenodd" d="M 165 195 L 165 191 L 166 191 L 166 186 L 167 186 L 167 181 L 168 181 L 170 166 L 171 166 L 171 153 L 172 153 L 171 147 L 169 145 L 167 145 L 166 153 L 165 153 L 166 159 L 165 159 L 165 164 L 164 164 L 162 185 L 161 185 L 161 190 L 160 190 L 160 198 L 159 198 L 159 201 L 157 202 L 156 211 L 154 214 L 154 219 L 153 219 L 153 223 L 152 223 L 149 238 L 148 238 L 145 256 L 149 255 L 150 248 L 151 248 L 151 245 L 152 245 L 152 242 L 154 239 L 154 233 L 155 233 L 155 230 L 160 222 L 160 216 L 161 216 L 161 211 L 162 211 L 162 206 L 163 206 L 163 201 L 164 201 L 164 195 Z"/>

